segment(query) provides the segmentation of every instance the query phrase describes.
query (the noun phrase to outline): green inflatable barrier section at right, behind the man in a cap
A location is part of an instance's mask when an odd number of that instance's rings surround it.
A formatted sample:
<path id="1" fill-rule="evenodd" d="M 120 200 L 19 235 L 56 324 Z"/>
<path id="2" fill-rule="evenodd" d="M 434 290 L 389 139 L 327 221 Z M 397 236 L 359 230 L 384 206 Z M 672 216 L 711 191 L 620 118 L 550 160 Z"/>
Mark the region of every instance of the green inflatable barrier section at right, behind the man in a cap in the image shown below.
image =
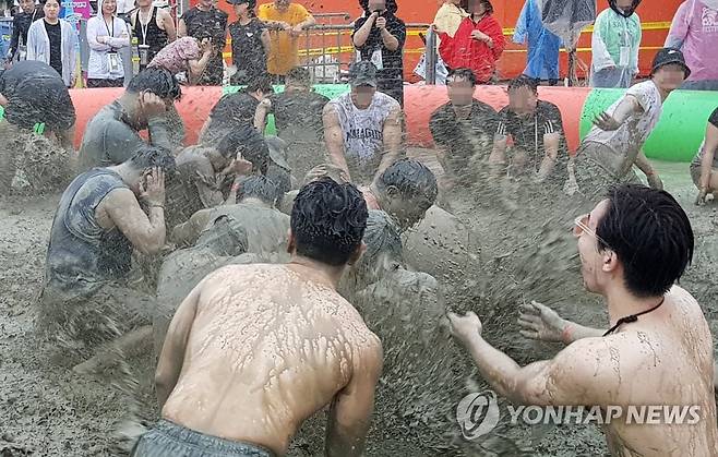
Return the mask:
<path id="1" fill-rule="evenodd" d="M 624 89 L 594 89 L 581 115 L 581 137 L 586 136 L 596 115 L 610 107 Z M 674 91 L 663 105 L 656 129 L 646 141 L 644 152 L 649 158 L 668 161 L 691 161 L 705 136 L 708 117 L 718 108 L 718 92 Z M 677 134 L 675 132 L 680 132 Z"/>

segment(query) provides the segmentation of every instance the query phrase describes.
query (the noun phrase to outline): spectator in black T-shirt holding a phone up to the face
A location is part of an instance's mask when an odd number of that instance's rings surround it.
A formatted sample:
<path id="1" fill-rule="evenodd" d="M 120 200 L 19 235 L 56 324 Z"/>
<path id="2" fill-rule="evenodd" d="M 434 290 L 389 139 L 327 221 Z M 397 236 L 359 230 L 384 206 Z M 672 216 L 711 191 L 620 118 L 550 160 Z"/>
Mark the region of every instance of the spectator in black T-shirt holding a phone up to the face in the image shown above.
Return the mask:
<path id="1" fill-rule="evenodd" d="M 370 60 L 379 69 L 376 89 L 404 106 L 404 61 L 406 25 L 396 17 L 395 0 L 360 0 L 364 15 L 354 23 L 354 46 L 359 60 Z"/>

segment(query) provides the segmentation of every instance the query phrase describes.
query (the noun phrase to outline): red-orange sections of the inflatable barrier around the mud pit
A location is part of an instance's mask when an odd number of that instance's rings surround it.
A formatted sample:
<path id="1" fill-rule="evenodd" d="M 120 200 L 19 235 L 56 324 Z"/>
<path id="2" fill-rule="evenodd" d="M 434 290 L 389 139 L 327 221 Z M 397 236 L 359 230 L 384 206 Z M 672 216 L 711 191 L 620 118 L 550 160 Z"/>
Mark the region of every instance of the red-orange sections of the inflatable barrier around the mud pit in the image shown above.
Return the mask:
<path id="1" fill-rule="evenodd" d="M 563 129 L 569 148 L 575 151 L 579 139 L 579 122 L 584 103 L 590 93 L 588 87 L 539 87 L 539 97 L 557 105 L 563 116 Z M 75 106 L 77 121 L 75 125 L 75 144 L 80 146 L 87 122 L 104 106 L 109 105 L 123 93 L 122 88 L 83 88 L 72 89 L 70 95 Z M 195 144 L 200 130 L 210 116 L 210 111 L 223 95 L 223 88 L 184 87 L 182 99 L 177 110 L 184 120 L 187 130 L 186 144 Z M 508 104 L 505 86 L 479 86 L 476 97 L 499 110 Z M 405 112 L 408 144 L 418 147 L 431 147 L 433 142 L 429 132 L 431 113 L 448 101 L 445 86 L 406 86 L 404 89 Z"/>

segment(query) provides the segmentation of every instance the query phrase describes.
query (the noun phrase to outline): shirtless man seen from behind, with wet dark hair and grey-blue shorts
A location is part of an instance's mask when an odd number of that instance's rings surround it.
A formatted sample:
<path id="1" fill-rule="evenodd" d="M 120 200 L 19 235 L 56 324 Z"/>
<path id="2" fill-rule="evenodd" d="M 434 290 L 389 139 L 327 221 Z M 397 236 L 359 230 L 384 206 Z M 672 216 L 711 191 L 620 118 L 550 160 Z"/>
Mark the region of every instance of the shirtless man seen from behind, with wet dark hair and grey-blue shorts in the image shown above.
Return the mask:
<path id="1" fill-rule="evenodd" d="M 361 255 L 367 204 L 323 179 L 291 216 L 289 264 L 222 268 L 180 305 L 155 378 L 163 419 L 134 457 L 285 455 L 330 404 L 326 455 L 361 455 L 382 347 L 336 287 Z"/>

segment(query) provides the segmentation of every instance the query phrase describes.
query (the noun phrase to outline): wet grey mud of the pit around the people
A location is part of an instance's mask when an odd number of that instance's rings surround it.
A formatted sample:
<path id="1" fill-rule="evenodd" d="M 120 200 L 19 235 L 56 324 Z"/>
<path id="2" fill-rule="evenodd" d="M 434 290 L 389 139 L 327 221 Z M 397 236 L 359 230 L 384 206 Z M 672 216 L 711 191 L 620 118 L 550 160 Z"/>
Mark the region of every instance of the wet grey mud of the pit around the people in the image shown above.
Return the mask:
<path id="1" fill-rule="evenodd" d="M 658 169 L 668 177 L 667 188 L 689 212 L 696 234 L 694 263 L 682 285 L 703 304 L 716 328 L 718 205 L 693 206 L 695 192 L 685 166 L 659 165 Z M 34 345 L 32 305 L 41 284 L 58 199 L 0 200 L 0 279 L 4 286 L 0 300 L 0 456 L 123 455 L 115 447 L 116 430 L 132 419 L 129 414 L 134 405 L 145 421 L 156 418 L 151 351 L 131 361 L 133 374 L 141 380 L 135 402 L 110 387 L 117 373 L 77 376 L 69 369 L 48 364 Z M 445 304 L 459 311 L 477 310 L 490 342 L 519 363 L 550 357 L 558 349 L 518 335 L 515 306 L 522 300 L 543 301 L 564 317 L 583 324 L 605 323 L 602 308 L 583 292 L 575 251 L 567 249 L 573 244 L 565 220 L 555 221 L 557 228 L 530 208 L 506 212 L 481 202 L 477 208 L 467 196 L 458 199 L 454 209 L 474 230 L 482 248 L 483 278 L 492 280 L 478 281 L 470 299 L 452 299 Z M 559 209 L 554 206 L 555 213 Z M 563 216 L 570 220 L 573 214 Z M 513 233 L 515 227 L 520 231 Z M 535 267 L 540 274 L 531 273 Z M 496 277 L 503 279 L 496 281 Z M 564 301 L 559 302 L 555 290 Z M 594 426 L 508 428 L 505 409 L 502 422 L 489 436 L 464 442 L 455 422 L 456 405 L 464 395 L 486 388 L 468 356 L 434 320 L 427 320 L 417 310 L 381 310 L 380 305 L 367 311 L 368 323 L 383 337 L 386 359 L 367 455 L 606 454 L 603 436 Z M 322 454 L 324 416 L 320 412 L 308 421 L 292 444 L 291 456 Z"/>

